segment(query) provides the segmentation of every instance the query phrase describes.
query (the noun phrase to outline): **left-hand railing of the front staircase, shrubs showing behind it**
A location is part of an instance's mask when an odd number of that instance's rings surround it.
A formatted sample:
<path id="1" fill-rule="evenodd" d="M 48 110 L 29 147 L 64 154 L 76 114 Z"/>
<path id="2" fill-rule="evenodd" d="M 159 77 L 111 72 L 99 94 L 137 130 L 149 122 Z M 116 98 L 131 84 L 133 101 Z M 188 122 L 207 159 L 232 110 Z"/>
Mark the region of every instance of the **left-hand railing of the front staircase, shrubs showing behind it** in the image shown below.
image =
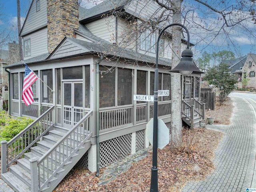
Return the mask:
<path id="1" fill-rule="evenodd" d="M 53 116 L 54 106 L 50 107 L 9 142 L 1 141 L 1 173 L 5 173 L 13 162 L 54 126 Z"/>

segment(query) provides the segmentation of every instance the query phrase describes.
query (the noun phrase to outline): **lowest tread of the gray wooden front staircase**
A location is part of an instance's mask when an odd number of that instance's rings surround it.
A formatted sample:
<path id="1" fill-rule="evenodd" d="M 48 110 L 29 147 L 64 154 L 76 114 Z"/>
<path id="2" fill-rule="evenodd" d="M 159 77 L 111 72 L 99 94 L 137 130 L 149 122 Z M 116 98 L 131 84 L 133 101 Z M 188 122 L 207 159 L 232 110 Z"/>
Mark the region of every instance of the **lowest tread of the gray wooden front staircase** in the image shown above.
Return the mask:
<path id="1" fill-rule="evenodd" d="M 8 171 L 1 175 L 2 179 L 6 184 L 11 186 L 15 191 L 18 192 L 31 192 L 31 188 L 16 177 L 12 172 Z"/>

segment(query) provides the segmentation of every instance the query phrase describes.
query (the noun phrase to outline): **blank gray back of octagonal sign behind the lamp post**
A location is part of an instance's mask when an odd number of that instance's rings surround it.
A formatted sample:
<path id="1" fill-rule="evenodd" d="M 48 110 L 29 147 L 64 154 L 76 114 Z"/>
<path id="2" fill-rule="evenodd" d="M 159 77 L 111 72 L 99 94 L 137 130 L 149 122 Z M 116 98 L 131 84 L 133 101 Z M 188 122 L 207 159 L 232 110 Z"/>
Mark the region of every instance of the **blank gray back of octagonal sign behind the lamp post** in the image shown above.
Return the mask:
<path id="1" fill-rule="evenodd" d="M 146 137 L 153 145 L 153 122 L 152 118 L 146 125 Z M 169 129 L 162 119 L 158 119 L 157 148 L 162 149 L 169 143 Z"/>

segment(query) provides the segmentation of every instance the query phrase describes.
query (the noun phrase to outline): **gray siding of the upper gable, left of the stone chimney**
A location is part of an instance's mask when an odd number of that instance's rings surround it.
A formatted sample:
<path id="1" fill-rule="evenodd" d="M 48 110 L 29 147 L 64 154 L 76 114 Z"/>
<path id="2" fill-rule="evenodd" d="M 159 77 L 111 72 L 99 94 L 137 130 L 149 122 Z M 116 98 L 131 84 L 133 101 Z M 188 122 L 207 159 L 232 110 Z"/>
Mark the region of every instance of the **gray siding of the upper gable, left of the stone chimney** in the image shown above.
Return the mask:
<path id="1" fill-rule="evenodd" d="M 36 0 L 33 0 L 27 18 L 23 24 L 21 36 L 47 25 L 46 0 L 40 0 L 40 10 L 36 12 Z"/>

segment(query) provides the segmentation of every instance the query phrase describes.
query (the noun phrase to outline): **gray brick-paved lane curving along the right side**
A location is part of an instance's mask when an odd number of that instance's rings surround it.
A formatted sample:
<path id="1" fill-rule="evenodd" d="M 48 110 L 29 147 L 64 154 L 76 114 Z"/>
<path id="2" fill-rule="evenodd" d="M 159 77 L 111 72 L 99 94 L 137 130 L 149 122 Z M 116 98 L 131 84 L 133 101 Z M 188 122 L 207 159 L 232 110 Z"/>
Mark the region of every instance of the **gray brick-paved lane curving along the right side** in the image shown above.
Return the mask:
<path id="1" fill-rule="evenodd" d="M 230 126 L 207 125 L 225 133 L 215 153 L 216 170 L 206 180 L 189 182 L 182 192 L 246 192 L 252 185 L 256 157 L 254 112 L 247 102 L 233 97 L 234 114 Z"/>

